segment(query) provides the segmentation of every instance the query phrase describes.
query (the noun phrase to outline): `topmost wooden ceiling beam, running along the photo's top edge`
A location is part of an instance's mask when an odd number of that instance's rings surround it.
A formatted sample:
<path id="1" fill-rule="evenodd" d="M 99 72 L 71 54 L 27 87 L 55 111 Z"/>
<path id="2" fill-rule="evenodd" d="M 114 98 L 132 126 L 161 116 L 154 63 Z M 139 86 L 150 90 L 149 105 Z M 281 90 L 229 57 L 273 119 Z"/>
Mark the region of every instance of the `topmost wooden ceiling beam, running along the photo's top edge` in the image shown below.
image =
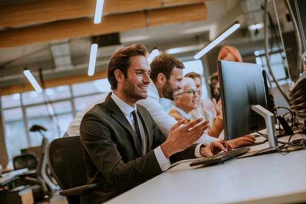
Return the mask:
<path id="1" fill-rule="evenodd" d="M 162 6 L 200 3 L 204 0 L 105 0 L 104 15 Z M 0 27 L 15 27 L 67 19 L 93 17 L 96 0 L 39 0 L 0 6 Z"/>

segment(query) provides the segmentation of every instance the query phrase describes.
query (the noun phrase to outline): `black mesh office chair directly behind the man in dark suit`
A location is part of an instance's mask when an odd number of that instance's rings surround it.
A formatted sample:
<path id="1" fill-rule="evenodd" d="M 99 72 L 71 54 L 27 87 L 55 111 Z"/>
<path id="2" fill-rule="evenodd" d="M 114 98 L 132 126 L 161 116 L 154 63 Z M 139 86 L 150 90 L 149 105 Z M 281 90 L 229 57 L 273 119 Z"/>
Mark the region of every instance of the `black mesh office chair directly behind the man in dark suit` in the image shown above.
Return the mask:
<path id="1" fill-rule="evenodd" d="M 91 204 L 90 194 L 100 183 L 87 185 L 86 166 L 80 136 L 52 140 L 47 150 L 53 177 L 63 191 L 68 204 Z"/>

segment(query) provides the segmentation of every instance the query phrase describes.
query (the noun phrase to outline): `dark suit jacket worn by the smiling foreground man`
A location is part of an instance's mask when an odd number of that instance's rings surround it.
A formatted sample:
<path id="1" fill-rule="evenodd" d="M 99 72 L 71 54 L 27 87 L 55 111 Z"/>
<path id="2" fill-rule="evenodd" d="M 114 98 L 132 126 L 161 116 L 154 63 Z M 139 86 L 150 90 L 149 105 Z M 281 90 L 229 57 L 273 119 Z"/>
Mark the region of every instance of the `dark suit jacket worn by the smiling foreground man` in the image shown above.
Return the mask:
<path id="1" fill-rule="evenodd" d="M 88 183 L 102 183 L 102 187 L 91 194 L 93 204 L 101 204 L 162 173 L 153 149 L 164 142 L 166 136 L 150 113 L 137 105 L 147 136 L 148 152 L 143 155 L 135 132 L 110 94 L 105 102 L 84 115 L 80 126 Z M 195 147 L 196 144 L 176 153 L 170 160 L 195 158 Z"/>

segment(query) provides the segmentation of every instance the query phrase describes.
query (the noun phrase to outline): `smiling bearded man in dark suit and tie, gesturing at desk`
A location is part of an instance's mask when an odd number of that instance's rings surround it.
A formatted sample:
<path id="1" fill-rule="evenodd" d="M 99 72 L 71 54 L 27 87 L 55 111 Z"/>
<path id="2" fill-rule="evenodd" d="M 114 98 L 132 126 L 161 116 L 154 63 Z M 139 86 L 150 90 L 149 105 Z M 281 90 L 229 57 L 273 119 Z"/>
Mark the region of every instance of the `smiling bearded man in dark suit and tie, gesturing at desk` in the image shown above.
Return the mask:
<path id="1" fill-rule="evenodd" d="M 113 92 L 82 119 L 80 135 L 88 183 L 102 183 L 91 195 L 93 204 L 101 204 L 161 174 L 170 161 L 230 149 L 224 141 L 194 144 L 208 128 L 208 121 L 199 118 L 181 127 L 184 120 L 179 121 L 167 137 L 143 106 L 136 107 L 138 100 L 148 96 L 151 68 L 146 54 L 146 47 L 140 44 L 113 54 L 108 66 Z"/>

